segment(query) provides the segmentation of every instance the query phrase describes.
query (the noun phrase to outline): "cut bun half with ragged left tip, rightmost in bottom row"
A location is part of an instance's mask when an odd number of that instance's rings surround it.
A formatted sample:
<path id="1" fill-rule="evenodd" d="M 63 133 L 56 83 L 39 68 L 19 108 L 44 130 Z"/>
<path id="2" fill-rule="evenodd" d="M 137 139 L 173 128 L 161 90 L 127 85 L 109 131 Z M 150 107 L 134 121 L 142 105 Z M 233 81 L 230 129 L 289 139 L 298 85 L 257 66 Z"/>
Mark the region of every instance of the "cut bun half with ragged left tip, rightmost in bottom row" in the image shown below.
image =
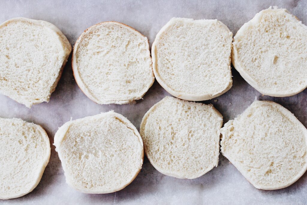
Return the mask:
<path id="1" fill-rule="evenodd" d="M 221 152 L 258 189 L 290 186 L 307 169 L 307 130 L 280 104 L 255 101 L 222 135 Z"/>

